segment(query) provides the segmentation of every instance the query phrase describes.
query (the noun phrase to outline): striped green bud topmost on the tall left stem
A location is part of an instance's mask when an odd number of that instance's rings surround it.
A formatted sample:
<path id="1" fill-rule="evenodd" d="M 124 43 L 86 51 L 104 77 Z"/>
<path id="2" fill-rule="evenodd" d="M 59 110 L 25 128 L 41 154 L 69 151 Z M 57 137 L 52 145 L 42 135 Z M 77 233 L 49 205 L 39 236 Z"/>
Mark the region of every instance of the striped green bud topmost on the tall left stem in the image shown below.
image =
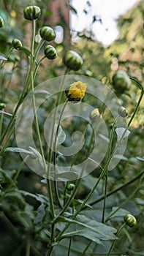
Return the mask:
<path id="1" fill-rule="evenodd" d="M 28 6 L 23 10 L 23 16 L 26 20 L 37 20 L 40 14 L 40 8 L 35 5 Z"/>

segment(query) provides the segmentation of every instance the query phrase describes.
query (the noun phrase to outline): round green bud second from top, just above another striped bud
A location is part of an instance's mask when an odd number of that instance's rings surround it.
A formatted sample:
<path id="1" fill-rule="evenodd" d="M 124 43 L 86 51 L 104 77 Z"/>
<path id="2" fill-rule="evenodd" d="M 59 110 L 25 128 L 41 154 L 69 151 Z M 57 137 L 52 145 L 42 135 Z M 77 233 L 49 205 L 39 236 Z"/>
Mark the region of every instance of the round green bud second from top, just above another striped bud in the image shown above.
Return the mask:
<path id="1" fill-rule="evenodd" d="M 39 34 L 42 39 L 48 42 L 56 38 L 56 33 L 52 28 L 50 28 L 50 26 L 42 26 L 42 28 L 39 30 Z"/>

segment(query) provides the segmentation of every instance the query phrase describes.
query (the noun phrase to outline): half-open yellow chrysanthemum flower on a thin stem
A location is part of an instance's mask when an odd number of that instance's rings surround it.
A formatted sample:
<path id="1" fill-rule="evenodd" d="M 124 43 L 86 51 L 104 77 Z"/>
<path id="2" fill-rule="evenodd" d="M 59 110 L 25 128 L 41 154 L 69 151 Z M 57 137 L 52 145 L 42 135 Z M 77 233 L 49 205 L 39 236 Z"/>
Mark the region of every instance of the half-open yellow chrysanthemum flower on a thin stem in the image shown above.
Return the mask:
<path id="1" fill-rule="evenodd" d="M 82 83 L 81 81 L 72 83 L 69 89 L 67 89 L 65 92 L 70 102 L 80 102 L 81 99 L 83 99 L 83 97 L 85 96 L 86 83 Z"/>

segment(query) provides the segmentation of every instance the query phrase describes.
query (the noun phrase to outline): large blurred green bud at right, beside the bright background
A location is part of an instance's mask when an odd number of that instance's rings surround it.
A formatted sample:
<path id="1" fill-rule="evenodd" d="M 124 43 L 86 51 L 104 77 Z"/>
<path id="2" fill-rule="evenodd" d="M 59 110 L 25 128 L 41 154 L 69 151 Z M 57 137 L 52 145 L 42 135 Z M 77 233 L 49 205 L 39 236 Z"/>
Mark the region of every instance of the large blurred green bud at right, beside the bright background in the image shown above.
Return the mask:
<path id="1" fill-rule="evenodd" d="M 117 72 L 115 72 L 112 81 L 115 91 L 118 91 L 119 93 L 129 91 L 131 80 L 126 72 L 124 72 L 123 70 L 118 70 Z"/>

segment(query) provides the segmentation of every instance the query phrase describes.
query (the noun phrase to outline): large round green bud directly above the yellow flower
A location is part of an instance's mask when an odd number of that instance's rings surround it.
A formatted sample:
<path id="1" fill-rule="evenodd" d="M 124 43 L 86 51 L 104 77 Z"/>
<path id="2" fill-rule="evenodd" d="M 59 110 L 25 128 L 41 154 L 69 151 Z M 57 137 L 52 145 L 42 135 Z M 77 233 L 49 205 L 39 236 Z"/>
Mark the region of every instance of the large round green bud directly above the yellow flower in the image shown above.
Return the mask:
<path id="1" fill-rule="evenodd" d="M 64 64 L 72 70 L 78 70 L 83 65 L 83 59 L 74 50 L 68 50 L 64 55 Z"/>

